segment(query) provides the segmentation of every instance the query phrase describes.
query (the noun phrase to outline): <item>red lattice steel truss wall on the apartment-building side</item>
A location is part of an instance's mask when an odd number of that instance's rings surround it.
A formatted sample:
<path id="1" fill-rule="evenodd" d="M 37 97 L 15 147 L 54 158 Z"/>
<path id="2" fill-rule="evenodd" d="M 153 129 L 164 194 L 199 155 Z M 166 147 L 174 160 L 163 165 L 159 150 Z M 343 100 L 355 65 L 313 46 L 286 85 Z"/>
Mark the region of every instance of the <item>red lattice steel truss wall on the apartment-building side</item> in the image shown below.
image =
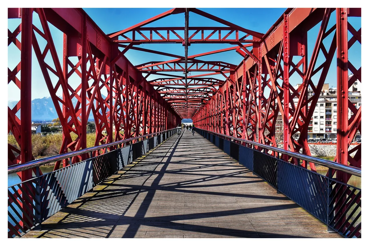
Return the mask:
<path id="1" fill-rule="evenodd" d="M 328 20 L 333 11 L 328 8 L 312 11 L 306 8 L 287 9 L 261 41 L 254 43 L 254 57 L 246 58 L 219 86 L 218 92 L 197 110 L 193 117 L 194 124 L 209 131 L 310 155 L 308 125 L 337 50 L 337 59 L 342 65 L 337 65 L 339 141 L 336 161 L 361 167 L 361 144 L 348 151 L 352 139 L 361 131 L 361 107 L 356 108 L 347 97 L 348 88 L 356 80 L 361 82 L 361 67 L 355 68 L 347 55 L 356 41 L 361 44 L 361 29 L 355 30 L 347 17 L 361 16 L 361 10 L 337 9 L 337 24 L 330 27 Z M 308 63 L 307 31 L 319 22 L 320 31 Z M 348 31 L 352 34 L 350 40 L 347 38 Z M 317 65 L 319 54 L 325 59 Z M 294 57 L 299 57 L 297 63 L 293 62 Z M 354 74 L 350 80 L 348 69 Z M 302 80 L 297 89 L 289 81 L 294 73 Z M 312 77 L 319 73 L 319 78 L 313 82 Z M 314 96 L 310 98 L 307 96 L 309 87 L 314 91 Z M 297 105 L 293 98 L 297 98 Z M 350 119 L 348 109 L 353 112 Z M 282 115 L 284 122 L 283 130 L 279 131 L 282 136 L 276 135 L 278 114 Z M 293 138 L 296 133 L 300 134 L 297 141 Z M 354 153 L 354 157 L 350 156 Z M 299 160 L 289 156 L 284 156 L 284 159 L 299 164 Z M 303 167 L 310 165 L 311 170 L 315 170 L 313 163 L 300 164 Z M 346 182 L 350 176 L 337 177 Z"/>

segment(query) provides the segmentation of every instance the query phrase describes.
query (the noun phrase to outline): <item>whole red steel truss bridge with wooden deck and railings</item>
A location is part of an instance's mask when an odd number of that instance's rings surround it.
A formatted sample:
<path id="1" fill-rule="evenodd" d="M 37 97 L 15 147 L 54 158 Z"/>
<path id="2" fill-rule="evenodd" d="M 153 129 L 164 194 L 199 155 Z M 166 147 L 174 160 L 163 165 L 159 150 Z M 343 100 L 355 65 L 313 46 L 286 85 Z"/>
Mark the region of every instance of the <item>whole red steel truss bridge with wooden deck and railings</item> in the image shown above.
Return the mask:
<path id="1" fill-rule="evenodd" d="M 190 14 L 220 27 L 189 26 Z M 184 26 L 146 27 L 169 15 L 183 18 Z M 8 174 L 21 180 L 8 187 L 8 237 L 360 238 L 361 187 L 350 180 L 361 178 L 361 142 L 354 145 L 361 134 L 361 106 L 354 105 L 349 88 L 361 83 L 361 65 L 350 53 L 353 45 L 361 46 L 361 28 L 350 24 L 351 17 L 361 17 L 361 8 L 287 8 L 263 34 L 197 8 L 173 8 L 105 34 L 82 8 L 8 8 L 9 19 L 21 20 L 8 30 L 8 46 L 20 51 L 18 65 L 8 67 L 8 84 L 15 84 L 21 98 L 8 107 L 8 132 L 17 142 L 8 143 Z M 308 31 L 314 27 L 308 52 Z M 62 56 L 55 28 L 63 34 Z M 184 55 L 141 44 L 178 44 Z M 192 44 L 231 46 L 188 55 Z M 132 49 L 172 59 L 133 65 L 125 56 Z M 242 62 L 206 58 L 223 52 L 234 52 Z M 308 132 L 336 61 L 337 155 L 330 161 L 311 156 Z M 31 143 L 35 67 L 62 129 L 59 155 L 42 159 L 32 155 Z M 300 82 L 294 86 L 296 76 Z M 77 86 L 68 83 L 72 77 Z M 96 140 L 87 148 L 90 114 Z M 194 134 L 177 134 L 184 118 L 193 119 Z M 55 163 L 54 171 L 42 173 L 39 167 L 47 163 Z M 317 165 L 327 173 L 317 173 Z M 150 207 L 154 201 L 156 207 Z M 280 204 L 252 207 L 268 201 Z M 130 206 L 136 205 L 132 215 Z M 258 212 L 260 217 L 252 216 Z M 215 229 L 207 220 L 222 216 L 231 227 L 217 220 Z M 273 232 L 265 231 L 265 218 L 277 225 Z M 197 224 L 187 224 L 191 219 Z M 291 226 L 298 219 L 301 228 Z"/>

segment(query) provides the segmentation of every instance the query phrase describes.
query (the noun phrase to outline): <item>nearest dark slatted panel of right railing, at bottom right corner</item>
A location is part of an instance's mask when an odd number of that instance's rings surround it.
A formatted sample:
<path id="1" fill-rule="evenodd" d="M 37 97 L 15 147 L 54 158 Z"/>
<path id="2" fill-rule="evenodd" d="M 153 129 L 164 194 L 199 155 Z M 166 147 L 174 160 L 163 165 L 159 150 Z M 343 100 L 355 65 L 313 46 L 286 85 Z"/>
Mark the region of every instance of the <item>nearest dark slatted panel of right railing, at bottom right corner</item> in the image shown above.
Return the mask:
<path id="1" fill-rule="evenodd" d="M 346 238 L 361 238 L 361 189 L 330 180 L 328 225 Z"/>

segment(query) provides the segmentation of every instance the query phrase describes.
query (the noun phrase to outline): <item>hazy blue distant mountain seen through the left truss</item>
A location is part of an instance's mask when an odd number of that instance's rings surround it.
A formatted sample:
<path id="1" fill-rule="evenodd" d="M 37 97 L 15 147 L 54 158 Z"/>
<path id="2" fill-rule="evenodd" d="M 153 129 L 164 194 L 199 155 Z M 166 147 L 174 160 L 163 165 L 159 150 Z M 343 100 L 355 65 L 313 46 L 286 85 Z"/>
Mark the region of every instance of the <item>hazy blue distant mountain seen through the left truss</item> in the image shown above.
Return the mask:
<path id="1" fill-rule="evenodd" d="M 103 98 L 106 96 L 102 95 Z M 61 97 L 60 97 L 61 98 Z M 17 105 L 18 101 L 8 101 L 8 106 L 13 109 L 15 105 Z M 77 103 L 77 99 L 73 97 L 72 103 L 75 106 Z M 58 114 L 56 113 L 54 103 L 52 102 L 51 97 L 43 97 L 36 98 L 31 101 L 31 118 L 34 121 L 48 121 L 52 119 L 58 118 Z M 59 103 L 61 106 L 62 104 Z M 20 117 L 20 110 L 16 114 Z M 90 112 L 89 119 L 93 119 L 92 112 Z"/>

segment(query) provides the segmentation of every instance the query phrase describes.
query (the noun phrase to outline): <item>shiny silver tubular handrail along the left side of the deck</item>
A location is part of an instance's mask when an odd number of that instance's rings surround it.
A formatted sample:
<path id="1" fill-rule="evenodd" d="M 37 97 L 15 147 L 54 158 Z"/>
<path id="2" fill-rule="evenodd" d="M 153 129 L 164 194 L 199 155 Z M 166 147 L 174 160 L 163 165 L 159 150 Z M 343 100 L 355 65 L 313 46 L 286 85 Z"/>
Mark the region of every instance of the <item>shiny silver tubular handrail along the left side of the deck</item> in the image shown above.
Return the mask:
<path id="1" fill-rule="evenodd" d="M 63 153 L 63 154 L 59 154 L 59 155 L 55 155 L 55 156 L 40 158 L 40 159 L 32 160 L 32 161 L 26 162 L 26 163 L 15 164 L 15 165 L 12 165 L 12 166 L 8 166 L 8 174 L 17 173 L 18 171 L 23 171 L 23 170 L 31 169 L 31 168 L 34 168 L 34 167 L 39 167 L 39 166 L 42 166 L 42 165 L 44 165 L 46 163 L 49 163 L 49 162 L 56 162 L 58 160 L 68 159 L 69 157 L 82 155 L 82 154 L 85 154 L 85 153 L 89 153 L 89 152 L 93 152 L 93 151 L 96 151 L 96 150 L 108 148 L 110 146 L 118 145 L 118 144 L 121 144 L 121 143 L 130 142 L 130 141 L 133 141 L 133 140 L 136 140 L 136 139 L 139 139 L 139 138 L 146 138 L 146 137 L 149 137 L 149 136 L 152 136 L 152 135 L 155 135 L 155 134 L 161 134 L 163 132 L 172 131 L 174 129 L 176 129 L 176 128 L 172 128 L 172 129 L 161 131 L 161 132 L 146 134 L 146 135 L 143 135 L 143 136 L 137 136 L 137 137 L 134 137 L 134 138 L 128 138 L 128 139 L 124 139 L 124 140 L 120 140 L 120 141 L 116 141 L 116 142 L 112 142 L 112 143 L 105 143 L 103 145 L 93 146 L 93 147 L 90 147 L 90 148 L 76 150 L 76 151 Z"/>

